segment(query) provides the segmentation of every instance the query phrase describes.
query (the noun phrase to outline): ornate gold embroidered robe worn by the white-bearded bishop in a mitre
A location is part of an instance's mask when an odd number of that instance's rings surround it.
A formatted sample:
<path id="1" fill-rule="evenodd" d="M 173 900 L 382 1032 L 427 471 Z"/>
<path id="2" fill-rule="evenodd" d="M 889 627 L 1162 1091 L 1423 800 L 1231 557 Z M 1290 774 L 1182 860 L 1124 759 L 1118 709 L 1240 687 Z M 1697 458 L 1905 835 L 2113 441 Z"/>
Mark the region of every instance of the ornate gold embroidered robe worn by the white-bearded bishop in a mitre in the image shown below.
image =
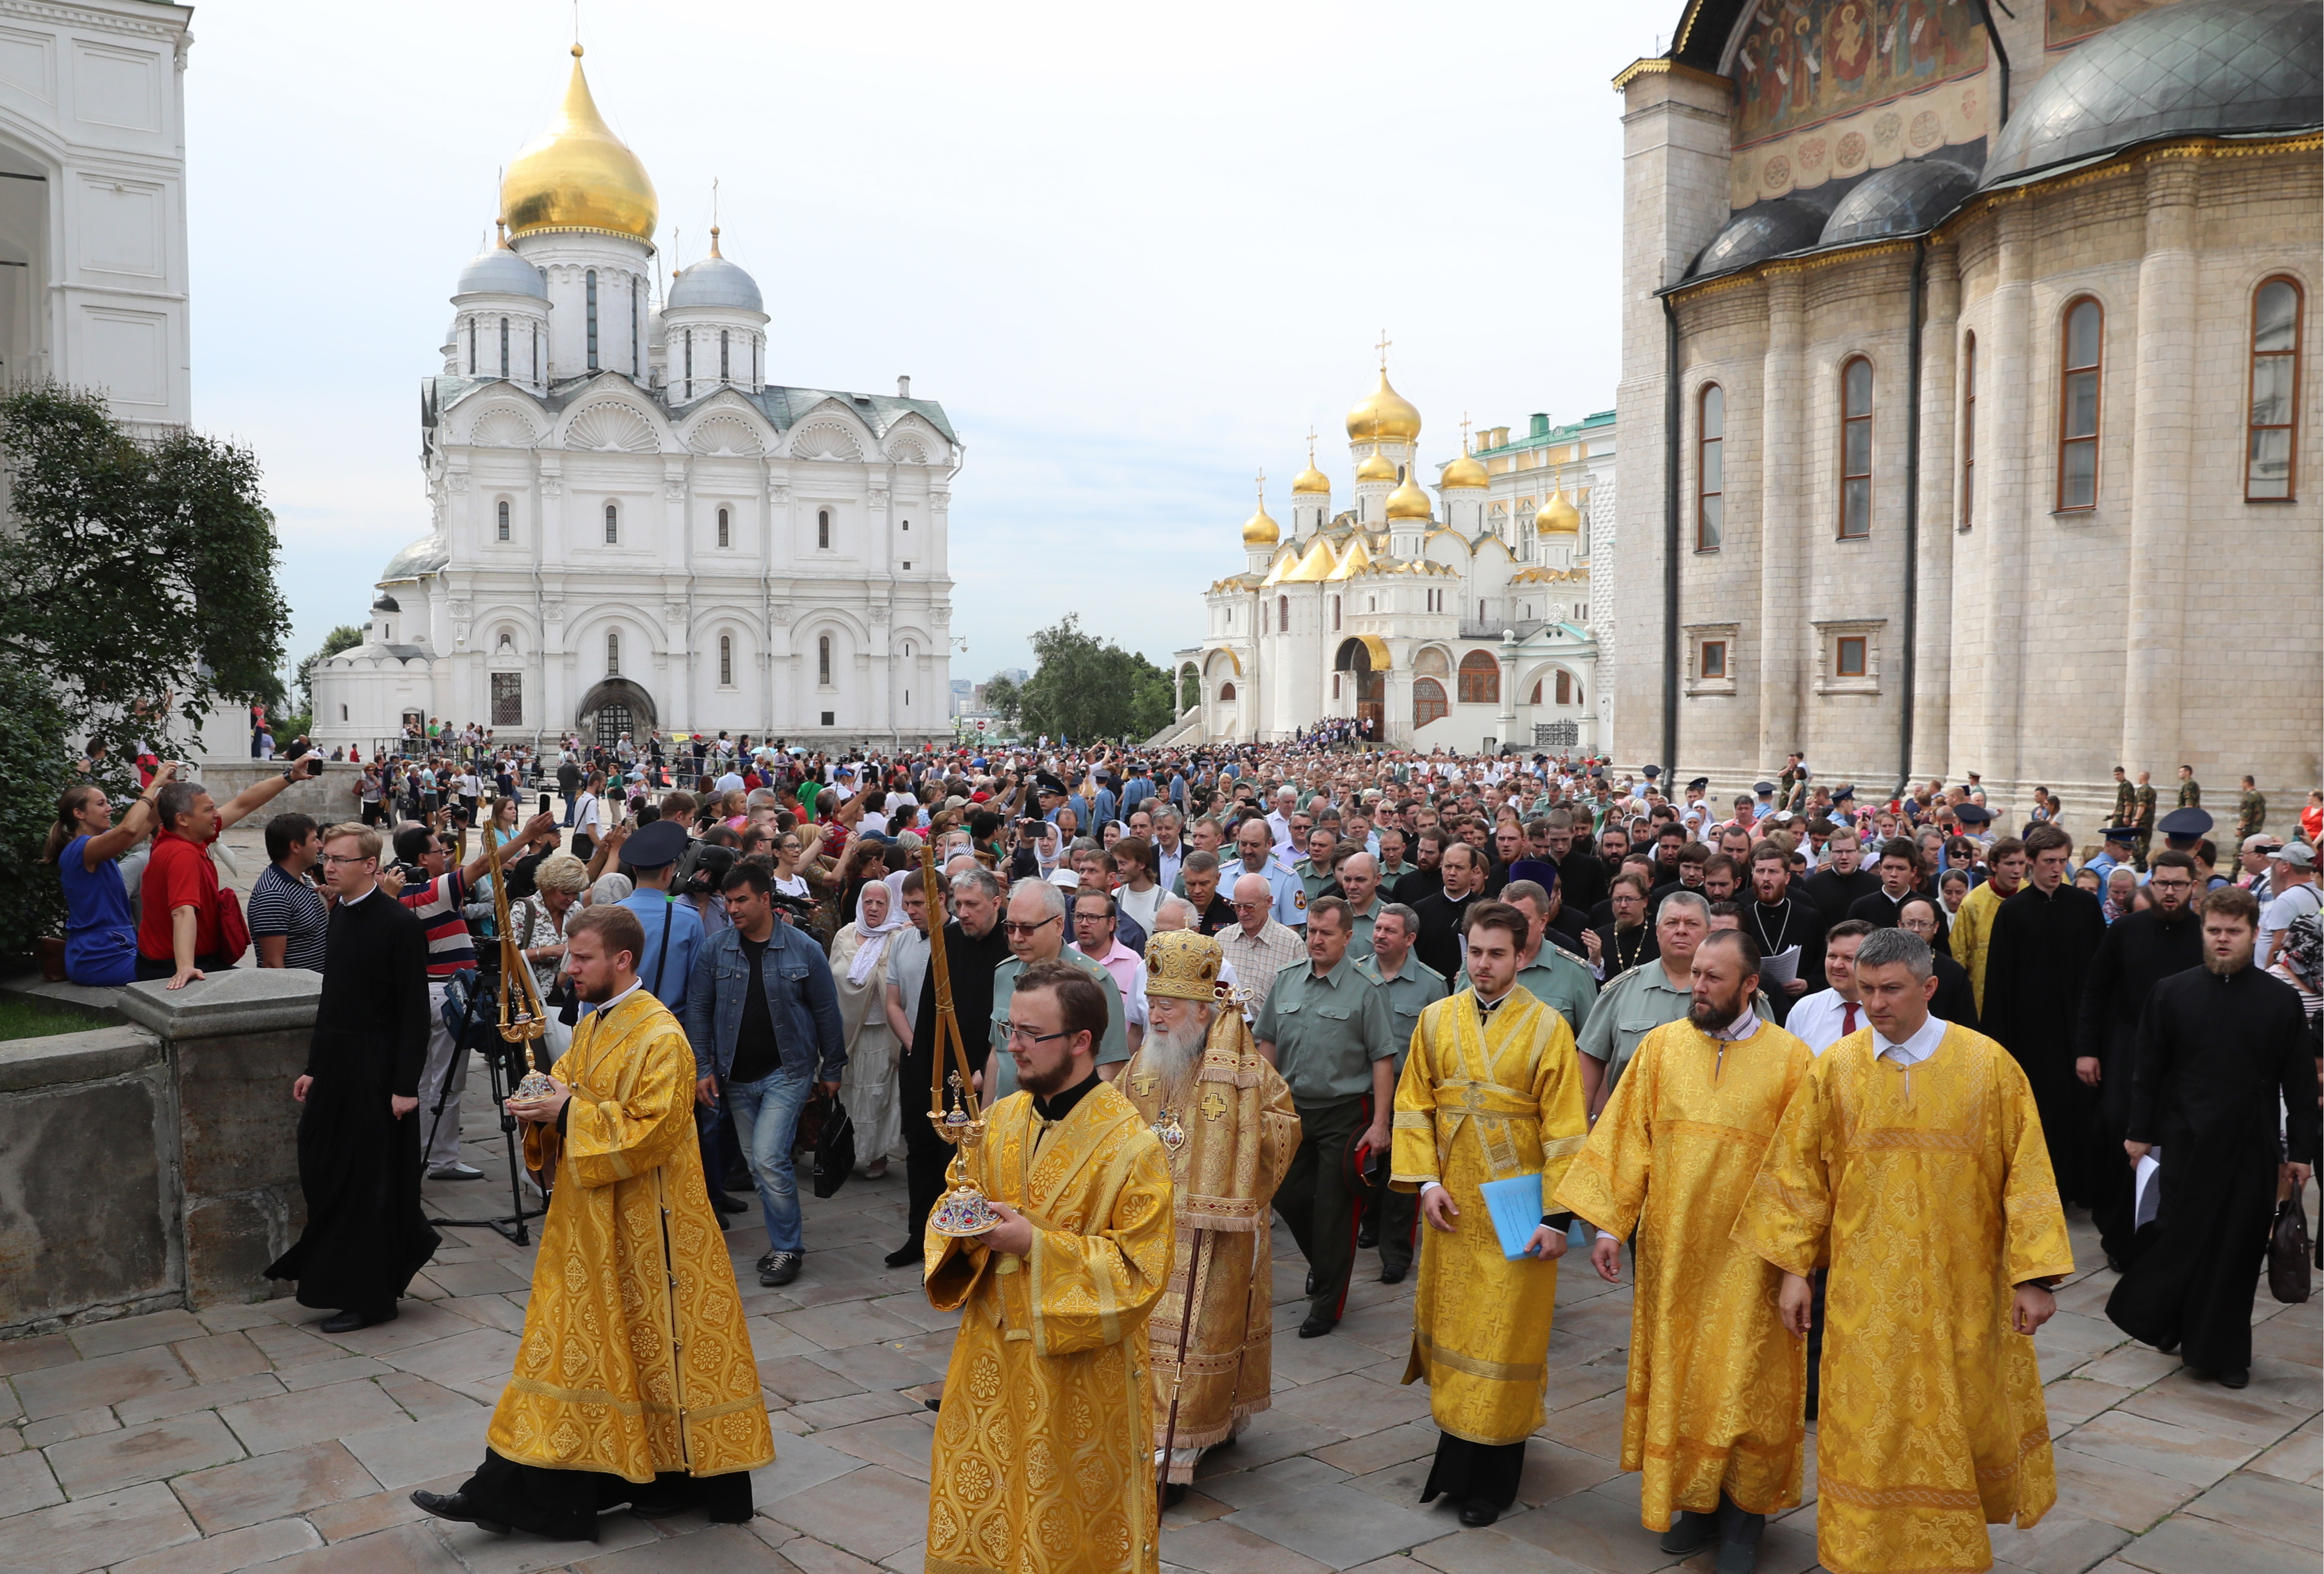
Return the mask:
<path id="1" fill-rule="evenodd" d="M 1185 1132 L 1185 1142 L 1169 1153 L 1178 1214 L 1169 1288 L 1155 1304 L 1146 1335 L 1153 1351 L 1155 1448 L 1169 1444 L 1171 1481 L 1192 1481 L 1192 1451 L 1227 1441 L 1243 1418 L 1269 1402 L 1276 1274 L 1267 1209 L 1299 1151 L 1299 1116 L 1292 1111 L 1290 1083 L 1267 1065 L 1250 1042 L 1243 1014 L 1232 1007 L 1220 1007 L 1202 1060 L 1183 1086 L 1162 1086 L 1150 1065 L 1141 1051 L 1113 1086 L 1129 1095 L 1139 1116 L 1157 1132 Z M 1169 1151 L 1167 1137 L 1162 1146 Z M 1192 1330 L 1185 1325 L 1190 1288 Z"/>

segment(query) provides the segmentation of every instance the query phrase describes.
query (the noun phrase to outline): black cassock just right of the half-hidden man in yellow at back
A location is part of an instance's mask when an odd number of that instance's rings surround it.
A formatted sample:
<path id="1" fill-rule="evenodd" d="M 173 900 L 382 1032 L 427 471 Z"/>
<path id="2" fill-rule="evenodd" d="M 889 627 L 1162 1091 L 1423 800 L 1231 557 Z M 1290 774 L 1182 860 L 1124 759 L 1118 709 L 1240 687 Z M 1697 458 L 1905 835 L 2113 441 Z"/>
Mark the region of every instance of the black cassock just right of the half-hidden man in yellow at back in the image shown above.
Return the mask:
<path id="1" fill-rule="evenodd" d="M 2040 1109 L 2043 1142 L 2066 1202 L 2089 1204 L 2089 1109 L 2096 1095 L 2073 1074 L 2073 1032 L 2082 1016 L 2089 958 L 2106 939 L 2099 897 L 2059 881 L 2031 883 L 1994 911 L 1985 951 L 1985 1037 L 1999 1039 L 2027 1074 Z"/>

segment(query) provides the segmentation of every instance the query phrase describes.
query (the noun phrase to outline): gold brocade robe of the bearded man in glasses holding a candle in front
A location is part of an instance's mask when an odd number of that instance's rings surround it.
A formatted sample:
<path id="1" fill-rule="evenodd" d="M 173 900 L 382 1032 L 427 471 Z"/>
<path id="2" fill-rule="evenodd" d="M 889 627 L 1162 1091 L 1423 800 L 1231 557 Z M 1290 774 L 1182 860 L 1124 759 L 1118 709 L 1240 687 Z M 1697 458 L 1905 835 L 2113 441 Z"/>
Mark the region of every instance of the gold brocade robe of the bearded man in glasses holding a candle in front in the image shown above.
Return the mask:
<path id="1" fill-rule="evenodd" d="M 1055 1125 L 1011 1093 L 976 1183 L 1030 1255 L 927 1232 L 927 1302 L 960 1311 L 927 1490 L 930 1574 L 1160 1569 L 1146 1318 L 1171 1267 L 1169 1158 L 1109 1083 Z"/>

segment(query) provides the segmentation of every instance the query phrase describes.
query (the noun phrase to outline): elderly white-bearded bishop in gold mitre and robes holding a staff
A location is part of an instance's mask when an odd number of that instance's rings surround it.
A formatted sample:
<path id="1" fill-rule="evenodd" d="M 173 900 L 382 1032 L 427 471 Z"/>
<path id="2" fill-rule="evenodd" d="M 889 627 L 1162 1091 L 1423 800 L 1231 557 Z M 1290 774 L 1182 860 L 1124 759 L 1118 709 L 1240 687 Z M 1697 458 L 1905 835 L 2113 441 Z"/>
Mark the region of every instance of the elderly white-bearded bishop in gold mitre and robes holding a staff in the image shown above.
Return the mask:
<path id="1" fill-rule="evenodd" d="M 1218 939 L 1192 930 L 1146 942 L 1146 1042 L 1113 1083 L 1169 1151 L 1178 1214 L 1169 1290 L 1146 1325 L 1155 1448 L 1169 1451 L 1164 1502 L 1195 1479 L 1204 1448 L 1267 1409 L 1269 1204 L 1299 1151 L 1290 1083 L 1227 1002 L 1222 960 Z"/>

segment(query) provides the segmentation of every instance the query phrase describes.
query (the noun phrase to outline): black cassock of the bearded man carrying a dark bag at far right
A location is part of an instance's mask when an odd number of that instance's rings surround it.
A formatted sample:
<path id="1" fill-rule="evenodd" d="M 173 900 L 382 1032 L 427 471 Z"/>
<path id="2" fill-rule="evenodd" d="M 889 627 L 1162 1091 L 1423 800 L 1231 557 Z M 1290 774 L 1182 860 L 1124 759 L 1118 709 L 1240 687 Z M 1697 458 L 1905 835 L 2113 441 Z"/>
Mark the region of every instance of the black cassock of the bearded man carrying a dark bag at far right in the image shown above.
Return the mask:
<path id="1" fill-rule="evenodd" d="M 2129 1137 L 2161 1160 L 2157 1237 L 2106 1316 L 2178 1339 L 2201 1372 L 2252 1365 L 2252 1293 L 2275 1218 L 2278 1109 L 2289 1156 L 2317 1160 L 2317 1069 L 2298 990 L 2259 967 L 2196 967 L 2154 986 L 2138 1018 Z"/>

